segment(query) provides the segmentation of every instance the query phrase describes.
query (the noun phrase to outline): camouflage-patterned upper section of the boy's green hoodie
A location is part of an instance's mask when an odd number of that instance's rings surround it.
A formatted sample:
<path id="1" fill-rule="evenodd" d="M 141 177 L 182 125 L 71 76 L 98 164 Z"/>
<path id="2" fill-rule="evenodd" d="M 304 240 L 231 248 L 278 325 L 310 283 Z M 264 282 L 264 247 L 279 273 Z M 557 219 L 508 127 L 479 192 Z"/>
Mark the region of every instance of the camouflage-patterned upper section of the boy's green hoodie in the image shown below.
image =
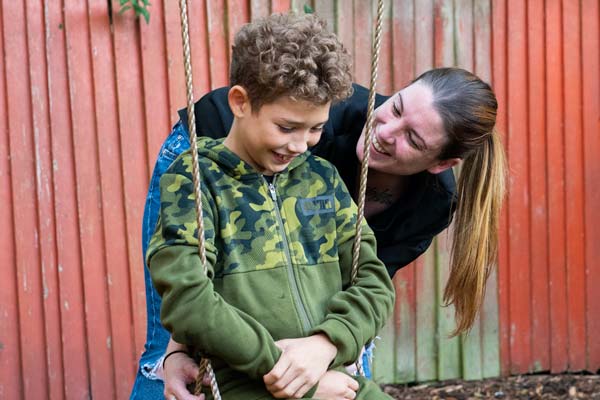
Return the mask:
<path id="1" fill-rule="evenodd" d="M 337 244 L 352 239 L 356 207 L 329 162 L 308 153 L 297 157 L 275 177 L 274 201 L 262 175 L 222 141 L 202 138 L 199 155 L 205 238 L 221 254 L 216 277 L 285 266 L 289 261 L 282 251 L 284 241 L 293 264 L 336 262 Z M 165 235 L 157 232 L 149 255 L 163 246 L 196 243 L 192 182 L 192 157 L 186 152 L 161 180 L 160 223 Z M 275 208 L 287 237 L 282 237 Z"/>

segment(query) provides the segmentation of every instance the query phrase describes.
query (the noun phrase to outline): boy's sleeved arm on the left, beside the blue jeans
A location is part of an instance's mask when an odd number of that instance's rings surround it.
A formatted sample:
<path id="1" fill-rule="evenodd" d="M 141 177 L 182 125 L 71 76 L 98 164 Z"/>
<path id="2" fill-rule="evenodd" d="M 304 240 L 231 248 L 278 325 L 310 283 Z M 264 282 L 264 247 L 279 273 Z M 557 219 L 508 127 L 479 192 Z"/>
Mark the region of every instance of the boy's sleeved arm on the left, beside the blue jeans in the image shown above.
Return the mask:
<path id="1" fill-rule="evenodd" d="M 191 157 L 188 157 L 191 159 Z M 253 378 L 271 370 L 280 350 L 254 318 L 230 306 L 214 291 L 216 261 L 213 208 L 203 192 L 208 276 L 198 255 L 193 184 L 189 161 L 176 160 L 161 179 L 161 209 L 148 249 L 152 281 L 162 297 L 161 320 L 173 339 L 202 349 Z"/>

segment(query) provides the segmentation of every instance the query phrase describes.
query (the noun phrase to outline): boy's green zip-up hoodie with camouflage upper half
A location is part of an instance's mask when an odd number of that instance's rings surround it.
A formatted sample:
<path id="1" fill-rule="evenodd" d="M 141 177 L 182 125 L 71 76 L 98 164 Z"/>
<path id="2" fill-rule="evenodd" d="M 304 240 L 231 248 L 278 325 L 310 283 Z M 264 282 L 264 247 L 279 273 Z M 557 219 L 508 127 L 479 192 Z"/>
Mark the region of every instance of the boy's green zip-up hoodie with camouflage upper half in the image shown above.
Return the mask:
<path id="1" fill-rule="evenodd" d="M 268 183 L 222 139 L 199 138 L 198 153 L 209 277 L 188 151 L 161 178 L 146 255 L 163 325 L 210 355 L 221 386 L 239 372 L 262 386 L 282 338 L 323 332 L 338 349 L 332 367 L 351 363 L 389 317 L 394 290 L 366 224 L 350 286 L 357 210 L 337 170 L 307 152 Z"/>

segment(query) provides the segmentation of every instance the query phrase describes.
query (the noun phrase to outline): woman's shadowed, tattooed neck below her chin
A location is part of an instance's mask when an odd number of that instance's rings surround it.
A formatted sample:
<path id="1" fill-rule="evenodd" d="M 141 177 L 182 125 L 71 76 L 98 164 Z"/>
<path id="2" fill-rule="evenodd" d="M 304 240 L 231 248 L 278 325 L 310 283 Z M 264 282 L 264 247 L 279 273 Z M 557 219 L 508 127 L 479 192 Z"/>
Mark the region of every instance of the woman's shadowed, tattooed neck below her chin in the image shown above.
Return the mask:
<path id="1" fill-rule="evenodd" d="M 378 214 L 391 207 L 406 192 L 409 178 L 409 176 L 369 170 L 365 194 L 365 216 Z"/>

